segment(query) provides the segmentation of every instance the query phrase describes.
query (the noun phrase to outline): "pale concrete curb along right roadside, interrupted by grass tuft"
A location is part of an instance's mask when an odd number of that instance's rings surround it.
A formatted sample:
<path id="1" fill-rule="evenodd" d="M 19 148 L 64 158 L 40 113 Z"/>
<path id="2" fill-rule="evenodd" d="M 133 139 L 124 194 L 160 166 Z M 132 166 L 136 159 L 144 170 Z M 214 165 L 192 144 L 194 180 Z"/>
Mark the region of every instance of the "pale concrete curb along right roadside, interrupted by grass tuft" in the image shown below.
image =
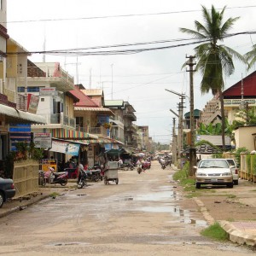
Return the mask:
<path id="1" fill-rule="evenodd" d="M 207 207 L 203 204 L 201 200 L 197 197 L 193 198 L 198 207 L 200 207 L 200 212 L 203 214 L 204 218 L 207 220 L 208 224 L 214 224 L 216 221 L 207 210 Z M 219 221 L 220 226 L 229 234 L 229 240 L 240 245 L 247 245 L 256 247 L 256 237 L 246 234 L 241 230 L 236 229 L 236 227 L 229 221 Z"/>

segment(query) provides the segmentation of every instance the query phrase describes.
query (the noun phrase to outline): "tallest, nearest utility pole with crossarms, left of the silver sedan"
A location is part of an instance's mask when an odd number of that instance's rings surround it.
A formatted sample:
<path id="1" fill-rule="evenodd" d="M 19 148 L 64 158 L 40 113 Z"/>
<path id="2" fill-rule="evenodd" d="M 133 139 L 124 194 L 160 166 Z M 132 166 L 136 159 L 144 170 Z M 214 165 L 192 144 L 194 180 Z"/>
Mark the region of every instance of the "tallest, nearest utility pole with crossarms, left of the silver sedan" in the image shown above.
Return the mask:
<path id="1" fill-rule="evenodd" d="M 196 166 L 196 149 L 195 149 L 195 116 L 194 116 L 194 82 L 193 82 L 193 73 L 195 70 L 193 69 L 195 63 L 193 59 L 195 56 L 186 56 L 189 58 L 187 65 L 189 65 L 189 84 L 190 84 L 190 148 L 189 148 L 189 176 L 194 176 L 195 171 L 193 166 Z"/>

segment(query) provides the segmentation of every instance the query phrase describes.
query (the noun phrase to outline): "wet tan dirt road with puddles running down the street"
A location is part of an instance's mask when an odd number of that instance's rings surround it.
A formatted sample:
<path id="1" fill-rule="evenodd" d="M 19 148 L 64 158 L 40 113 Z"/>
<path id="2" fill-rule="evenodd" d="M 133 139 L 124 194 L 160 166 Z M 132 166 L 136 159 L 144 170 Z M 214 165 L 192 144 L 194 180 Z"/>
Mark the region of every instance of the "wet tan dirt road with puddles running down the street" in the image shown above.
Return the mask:
<path id="1" fill-rule="evenodd" d="M 68 189 L 1 218 L 0 254 L 254 255 L 246 247 L 200 236 L 207 223 L 172 173 L 154 162 L 140 175 L 120 171 L 118 185 Z"/>

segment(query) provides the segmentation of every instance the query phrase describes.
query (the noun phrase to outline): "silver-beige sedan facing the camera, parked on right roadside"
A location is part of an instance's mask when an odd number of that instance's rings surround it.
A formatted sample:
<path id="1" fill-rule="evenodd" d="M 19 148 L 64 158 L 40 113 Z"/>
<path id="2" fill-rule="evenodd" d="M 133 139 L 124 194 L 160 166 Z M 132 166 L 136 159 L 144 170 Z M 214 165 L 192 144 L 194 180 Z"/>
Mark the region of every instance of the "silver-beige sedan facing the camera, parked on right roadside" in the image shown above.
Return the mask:
<path id="1" fill-rule="evenodd" d="M 233 175 L 228 160 L 203 159 L 195 166 L 195 187 L 201 185 L 226 185 L 233 188 Z"/>

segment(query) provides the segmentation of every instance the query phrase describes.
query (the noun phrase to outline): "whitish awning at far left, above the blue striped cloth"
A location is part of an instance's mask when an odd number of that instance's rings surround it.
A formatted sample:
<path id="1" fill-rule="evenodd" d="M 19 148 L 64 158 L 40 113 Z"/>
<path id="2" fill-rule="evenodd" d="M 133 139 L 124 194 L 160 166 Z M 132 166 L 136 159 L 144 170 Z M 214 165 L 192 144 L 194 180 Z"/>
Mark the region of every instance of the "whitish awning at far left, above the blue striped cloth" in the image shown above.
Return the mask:
<path id="1" fill-rule="evenodd" d="M 26 124 L 46 124 L 43 116 L 11 108 L 0 104 L 0 115 L 5 115 L 5 119 L 9 123 L 26 123 Z"/>

